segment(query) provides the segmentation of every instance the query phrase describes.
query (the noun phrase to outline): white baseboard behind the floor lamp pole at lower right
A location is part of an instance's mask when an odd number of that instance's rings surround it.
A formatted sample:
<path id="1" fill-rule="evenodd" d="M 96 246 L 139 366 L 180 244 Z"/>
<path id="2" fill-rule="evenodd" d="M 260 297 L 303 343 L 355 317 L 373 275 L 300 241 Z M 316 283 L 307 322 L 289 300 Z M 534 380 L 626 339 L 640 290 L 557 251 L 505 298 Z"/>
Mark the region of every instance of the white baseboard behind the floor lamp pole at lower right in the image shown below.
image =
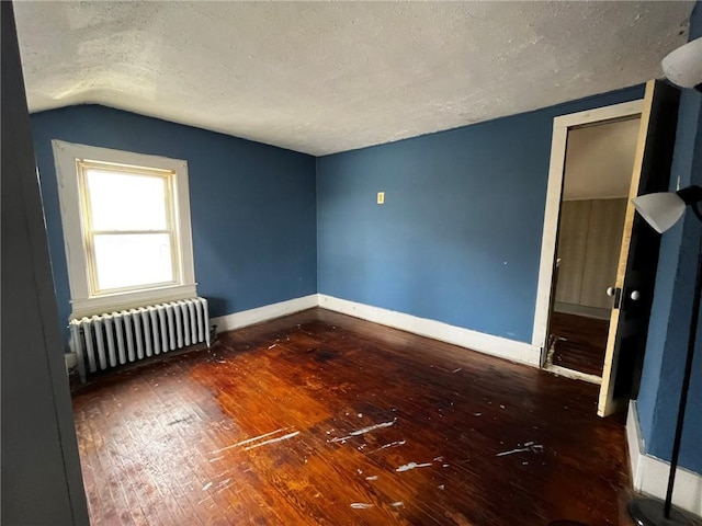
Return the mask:
<path id="1" fill-rule="evenodd" d="M 632 467 L 634 489 L 641 493 L 666 498 L 670 464 L 646 454 L 636 402 L 629 404 L 626 416 L 626 439 L 629 442 L 629 459 Z M 678 468 L 672 490 L 673 505 L 702 516 L 702 474 Z"/>

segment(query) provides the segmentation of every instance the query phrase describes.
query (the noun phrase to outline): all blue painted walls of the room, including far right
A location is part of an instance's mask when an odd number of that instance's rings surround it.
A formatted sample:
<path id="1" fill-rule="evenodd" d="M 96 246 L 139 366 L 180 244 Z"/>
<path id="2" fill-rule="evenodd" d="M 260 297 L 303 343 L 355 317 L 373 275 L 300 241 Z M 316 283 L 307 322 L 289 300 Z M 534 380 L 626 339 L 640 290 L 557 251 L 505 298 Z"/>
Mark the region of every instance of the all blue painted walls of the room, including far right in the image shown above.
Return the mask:
<path id="1" fill-rule="evenodd" d="M 701 19 L 698 2 L 691 35 L 702 33 Z M 553 117 L 641 96 L 643 88 L 632 88 L 327 156 L 316 165 L 302 153 L 102 106 L 35 114 L 61 321 L 70 307 L 54 138 L 189 161 L 195 272 L 212 316 L 318 289 L 530 342 Z M 686 91 L 672 174 L 682 185 L 702 184 L 701 121 L 700 95 Z M 375 204 L 378 191 L 386 192 L 383 206 Z M 687 217 L 661 243 L 638 408 L 647 450 L 663 458 L 669 457 L 699 230 Z M 700 407 L 698 352 L 681 457 L 698 472 Z"/>

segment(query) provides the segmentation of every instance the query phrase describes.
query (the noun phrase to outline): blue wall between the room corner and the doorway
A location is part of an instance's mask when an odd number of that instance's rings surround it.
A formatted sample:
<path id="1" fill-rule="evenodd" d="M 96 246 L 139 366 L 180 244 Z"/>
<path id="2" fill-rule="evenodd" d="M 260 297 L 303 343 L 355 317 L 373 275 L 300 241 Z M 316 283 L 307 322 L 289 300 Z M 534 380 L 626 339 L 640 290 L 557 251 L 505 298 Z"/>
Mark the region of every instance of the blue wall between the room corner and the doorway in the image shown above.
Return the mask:
<path id="1" fill-rule="evenodd" d="M 642 96 L 319 158 L 319 293 L 531 343 L 553 118 Z"/>

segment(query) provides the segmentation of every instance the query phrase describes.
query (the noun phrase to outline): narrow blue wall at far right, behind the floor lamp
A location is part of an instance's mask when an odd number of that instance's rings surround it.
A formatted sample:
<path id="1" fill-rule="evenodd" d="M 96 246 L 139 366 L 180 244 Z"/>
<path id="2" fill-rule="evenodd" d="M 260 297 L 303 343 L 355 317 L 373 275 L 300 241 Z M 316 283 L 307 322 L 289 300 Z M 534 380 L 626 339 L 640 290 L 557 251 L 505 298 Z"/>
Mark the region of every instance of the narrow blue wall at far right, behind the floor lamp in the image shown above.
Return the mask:
<path id="1" fill-rule="evenodd" d="M 690 39 L 702 36 L 702 3 L 695 4 L 690 21 Z M 676 150 L 670 190 L 680 178 L 681 187 L 702 185 L 702 95 L 683 90 L 678 113 Z M 699 256 L 701 228 L 691 211 L 661 240 L 656 291 L 638 415 L 647 453 L 670 459 L 680 384 L 687 351 L 692 286 Z M 702 473 L 702 327 L 689 391 L 680 464 Z"/>

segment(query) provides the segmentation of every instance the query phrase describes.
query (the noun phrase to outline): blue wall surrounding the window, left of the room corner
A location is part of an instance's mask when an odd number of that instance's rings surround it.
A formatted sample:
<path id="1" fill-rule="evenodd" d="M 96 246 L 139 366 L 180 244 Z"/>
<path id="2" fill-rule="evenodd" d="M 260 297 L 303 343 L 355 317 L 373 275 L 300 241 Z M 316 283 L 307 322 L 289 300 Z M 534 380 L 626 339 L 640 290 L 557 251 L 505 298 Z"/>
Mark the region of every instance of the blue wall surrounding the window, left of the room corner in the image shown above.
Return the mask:
<path id="1" fill-rule="evenodd" d="M 52 139 L 188 161 L 197 293 L 213 317 L 315 294 L 315 158 L 103 106 L 32 115 L 60 322 L 70 315 Z"/>

